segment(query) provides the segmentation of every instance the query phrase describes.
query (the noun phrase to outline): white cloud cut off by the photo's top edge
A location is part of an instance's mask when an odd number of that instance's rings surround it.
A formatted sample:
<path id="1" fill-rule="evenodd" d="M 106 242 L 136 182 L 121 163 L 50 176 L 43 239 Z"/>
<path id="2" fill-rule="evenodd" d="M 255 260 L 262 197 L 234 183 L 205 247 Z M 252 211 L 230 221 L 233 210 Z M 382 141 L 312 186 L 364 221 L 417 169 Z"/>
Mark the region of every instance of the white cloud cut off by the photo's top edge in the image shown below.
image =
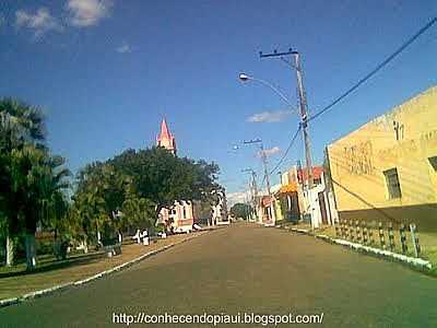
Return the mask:
<path id="1" fill-rule="evenodd" d="M 71 25 L 85 27 L 110 16 L 113 4 L 111 0 L 69 0 L 66 7 L 70 12 Z"/>

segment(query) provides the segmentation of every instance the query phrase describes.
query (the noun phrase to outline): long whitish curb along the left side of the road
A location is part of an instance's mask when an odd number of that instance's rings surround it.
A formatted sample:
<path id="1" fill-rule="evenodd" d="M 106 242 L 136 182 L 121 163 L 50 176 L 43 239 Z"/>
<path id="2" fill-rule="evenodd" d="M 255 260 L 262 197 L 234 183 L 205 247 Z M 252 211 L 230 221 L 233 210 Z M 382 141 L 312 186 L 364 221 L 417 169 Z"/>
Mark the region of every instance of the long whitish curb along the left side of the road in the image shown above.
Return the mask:
<path id="1" fill-rule="evenodd" d="M 206 233 L 208 232 L 209 231 L 206 231 Z M 201 235 L 203 235 L 203 234 L 201 234 Z M 91 277 L 82 279 L 82 280 L 70 281 L 70 282 L 58 284 L 58 285 L 55 285 L 55 286 L 51 286 L 51 288 L 48 288 L 48 289 L 31 292 L 31 293 L 27 293 L 27 294 L 24 294 L 24 295 L 17 296 L 17 297 L 0 300 L 0 308 L 7 307 L 7 306 L 10 306 L 10 305 L 14 305 L 14 304 L 20 304 L 20 303 L 23 303 L 23 302 L 26 302 L 26 301 L 29 301 L 29 300 L 34 300 L 34 298 L 37 298 L 37 297 L 47 296 L 47 295 L 52 294 L 52 293 L 55 293 L 57 291 L 66 290 L 68 288 L 86 284 L 88 282 L 92 282 L 92 281 L 96 280 L 96 279 L 101 279 L 101 278 L 109 276 L 109 274 L 111 274 L 114 272 L 118 272 L 118 271 L 121 271 L 123 269 L 127 269 L 127 268 L 133 266 L 134 263 L 138 263 L 138 262 L 142 261 L 143 259 L 146 259 L 147 257 L 151 257 L 151 256 L 154 256 L 154 255 L 156 255 L 158 253 L 167 250 L 168 248 L 172 248 L 172 247 L 174 247 L 176 245 L 184 244 L 184 243 L 186 243 L 188 241 L 191 241 L 193 238 L 197 238 L 197 237 L 199 237 L 201 235 L 197 234 L 197 235 L 190 236 L 190 237 L 188 237 L 188 238 L 186 238 L 184 241 L 163 246 L 163 247 L 161 247 L 158 249 L 155 249 L 155 250 L 151 250 L 151 251 L 149 251 L 146 254 L 143 254 L 143 255 L 130 260 L 130 261 L 121 263 L 121 265 L 119 265 L 117 267 L 114 267 L 111 269 L 98 272 L 98 273 L 96 273 L 94 276 L 91 276 Z"/>

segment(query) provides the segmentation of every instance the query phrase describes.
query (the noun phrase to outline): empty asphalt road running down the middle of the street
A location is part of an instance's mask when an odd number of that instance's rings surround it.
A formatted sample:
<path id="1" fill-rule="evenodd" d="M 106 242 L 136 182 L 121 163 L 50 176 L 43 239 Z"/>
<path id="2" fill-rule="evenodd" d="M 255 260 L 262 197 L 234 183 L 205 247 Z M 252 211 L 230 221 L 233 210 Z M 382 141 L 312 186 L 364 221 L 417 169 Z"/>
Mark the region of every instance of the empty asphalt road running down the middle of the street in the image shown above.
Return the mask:
<path id="1" fill-rule="evenodd" d="M 302 326 L 437 327 L 437 280 L 309 236 L 237 224 L 85 286 L 2 308 L 0 327 L 123 327 L 114 313 L 141 312 L 323 313 L 322 325 Z M 169 325 L 180 326 L 196 325 Z"/>

